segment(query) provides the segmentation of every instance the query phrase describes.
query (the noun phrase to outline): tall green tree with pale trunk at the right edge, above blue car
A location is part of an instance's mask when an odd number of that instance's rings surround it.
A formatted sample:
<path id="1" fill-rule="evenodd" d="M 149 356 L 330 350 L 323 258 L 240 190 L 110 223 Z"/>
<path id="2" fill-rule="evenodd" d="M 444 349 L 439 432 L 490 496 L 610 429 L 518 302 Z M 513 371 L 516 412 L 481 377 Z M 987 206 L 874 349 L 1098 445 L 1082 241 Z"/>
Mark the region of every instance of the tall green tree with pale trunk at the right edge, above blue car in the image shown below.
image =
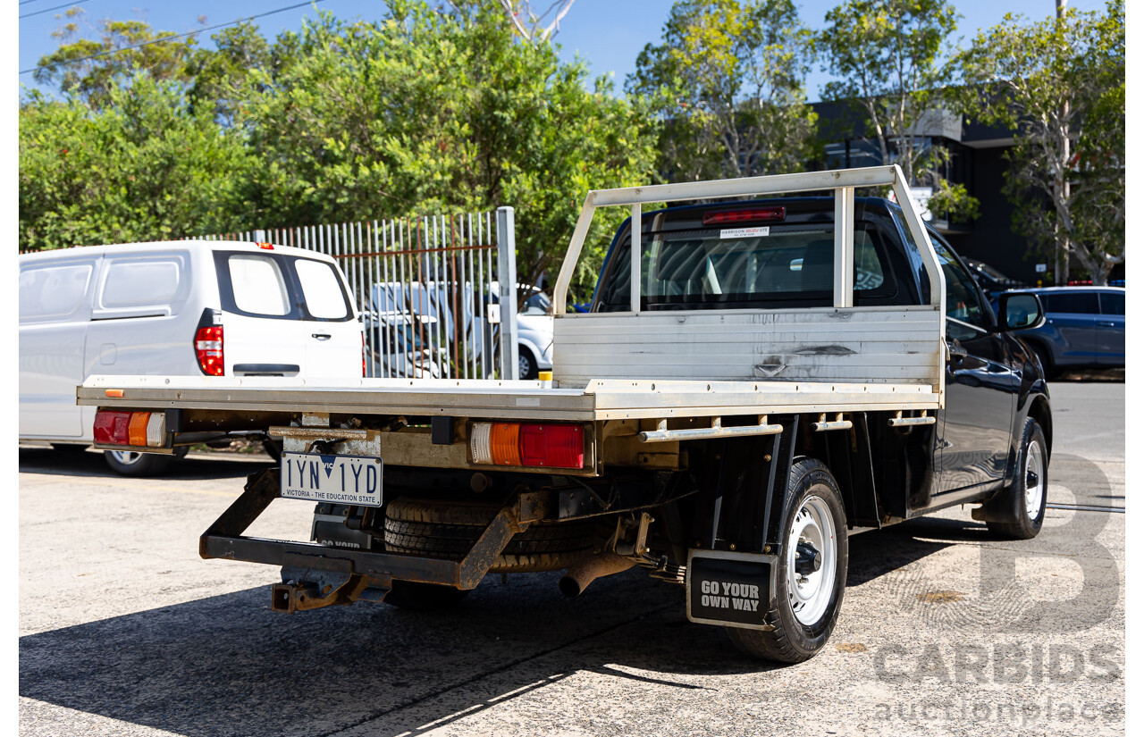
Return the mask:
<path id="1" fill-rule="evenodd" d="M 1106 283 L 1125 259 L 1123 3 L 1036 23 L 1007 15 L 961 64 L 970 114 L 1016 133 L 1006 174 L 1014 230 Z"/>

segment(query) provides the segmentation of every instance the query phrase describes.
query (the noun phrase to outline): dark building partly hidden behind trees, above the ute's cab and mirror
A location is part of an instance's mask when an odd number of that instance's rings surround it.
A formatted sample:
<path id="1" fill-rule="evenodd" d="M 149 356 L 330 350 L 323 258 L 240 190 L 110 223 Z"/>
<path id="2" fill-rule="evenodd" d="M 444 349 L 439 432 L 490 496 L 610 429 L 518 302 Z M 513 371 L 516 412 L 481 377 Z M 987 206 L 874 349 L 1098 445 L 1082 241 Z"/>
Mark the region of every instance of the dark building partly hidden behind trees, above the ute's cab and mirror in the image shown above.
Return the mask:
<path id="1" fill-rule="evenodd" d="M 815 103 L 812 107 L 819 117 L 819 137 L 832 142 L 825 147 L 825 168 L 882 163 L 877 144 L 865 135 L 866 118 L 858 109 L 844 103 Z M 1043 264 L 1051 274 L 1054 258 L 1033 250 L 1024 237 L 1014 232 L 1014 207 L 1002 192 L 1008 167 L 1004 153 L 1012 145 L 1012 131 L 967 123 L 959 114 L 936 111 L 920 121 L 913 133 L 915 143 L 922 149 L 940 145 L 950 151 L 948 168 L 943 175 L 950 182 L 964 184 L 980 202 L 980 214 L 975 221 L 950 222 L 943 214 L 935 213 L 930 224 L 962 257 L 990 264 L 1027 285 L 1044 281 L 1046 273 L 1038 272 L 1038 264 Z M 1080 273 L 1075 261 L 1070 273 Z M 1123 266 L 1118 266 L 1111 278 L 1123 279 Z"/>

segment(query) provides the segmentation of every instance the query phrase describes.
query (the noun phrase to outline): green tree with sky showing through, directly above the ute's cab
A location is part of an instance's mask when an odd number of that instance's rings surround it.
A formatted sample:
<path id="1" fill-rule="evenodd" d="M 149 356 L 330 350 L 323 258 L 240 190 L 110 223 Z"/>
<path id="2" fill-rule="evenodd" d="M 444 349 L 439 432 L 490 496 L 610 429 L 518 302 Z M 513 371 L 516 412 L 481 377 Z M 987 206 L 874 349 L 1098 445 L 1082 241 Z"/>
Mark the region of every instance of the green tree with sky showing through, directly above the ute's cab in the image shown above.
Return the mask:
<path id="1" fill-rule="evenodd" d="M 661 171 L 708 179 L 800 171 L 813 155 L 812 34 L 791 0 L 680 0 L 627 90 L 664 121 Z"/>

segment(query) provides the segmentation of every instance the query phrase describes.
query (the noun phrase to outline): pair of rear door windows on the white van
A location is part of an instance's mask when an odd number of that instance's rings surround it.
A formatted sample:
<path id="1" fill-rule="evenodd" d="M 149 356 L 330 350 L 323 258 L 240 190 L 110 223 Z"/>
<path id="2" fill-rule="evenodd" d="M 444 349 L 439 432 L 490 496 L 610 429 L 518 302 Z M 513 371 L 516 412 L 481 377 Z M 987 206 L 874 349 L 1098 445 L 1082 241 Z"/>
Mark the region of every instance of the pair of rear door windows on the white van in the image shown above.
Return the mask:
<path id="1" fill-rule="evenodd" d="M 256 318 L 343 322 L 352 303 L 335 266 L 312 258 L 215 253 L 223 310 Z"/>

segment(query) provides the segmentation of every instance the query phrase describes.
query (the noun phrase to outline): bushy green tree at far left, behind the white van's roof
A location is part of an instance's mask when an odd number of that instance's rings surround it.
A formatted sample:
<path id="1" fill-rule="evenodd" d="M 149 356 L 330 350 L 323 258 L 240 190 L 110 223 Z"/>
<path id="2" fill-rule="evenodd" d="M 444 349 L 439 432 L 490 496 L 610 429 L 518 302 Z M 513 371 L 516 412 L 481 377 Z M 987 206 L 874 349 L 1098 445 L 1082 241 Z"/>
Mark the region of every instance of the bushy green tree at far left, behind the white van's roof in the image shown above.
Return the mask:
<path id="1" fill-rule="evenodd" d="M 101 110 L 29 95 L 19 110 L 19 247 L 165 240 L 248 222 L 243 141 L 143 73 Z"/>

